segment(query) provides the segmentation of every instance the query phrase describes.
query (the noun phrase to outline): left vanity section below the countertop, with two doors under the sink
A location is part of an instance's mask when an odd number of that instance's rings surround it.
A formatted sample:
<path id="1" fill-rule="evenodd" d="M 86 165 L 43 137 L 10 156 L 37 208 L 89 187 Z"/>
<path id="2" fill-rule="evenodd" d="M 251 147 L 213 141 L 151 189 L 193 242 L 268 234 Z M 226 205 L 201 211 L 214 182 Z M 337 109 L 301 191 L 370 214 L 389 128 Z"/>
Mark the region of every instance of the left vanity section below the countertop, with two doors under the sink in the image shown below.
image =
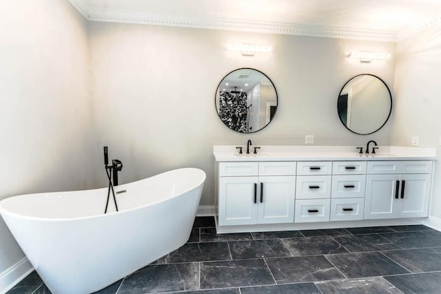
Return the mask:
<path id="1" fill-rule="evenodd" d="M 296 162 L 220 162 L 218 224 L 294 222 Z"/>

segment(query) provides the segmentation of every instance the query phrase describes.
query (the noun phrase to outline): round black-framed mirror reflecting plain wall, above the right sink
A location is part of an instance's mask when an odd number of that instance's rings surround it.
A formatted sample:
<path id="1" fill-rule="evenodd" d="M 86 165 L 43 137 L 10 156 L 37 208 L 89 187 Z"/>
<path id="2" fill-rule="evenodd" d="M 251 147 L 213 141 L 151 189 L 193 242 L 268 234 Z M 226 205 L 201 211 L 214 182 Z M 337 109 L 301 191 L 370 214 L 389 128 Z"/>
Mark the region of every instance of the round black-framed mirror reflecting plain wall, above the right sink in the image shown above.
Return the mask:
<path id="1" fill-rule="evenodd" d="M 392 96 L 378 76 L 360 74 L 351 78 L 340 91 L 338 116 L 349 131 L 367 135 L 377 132 L 392 111 Z"/>

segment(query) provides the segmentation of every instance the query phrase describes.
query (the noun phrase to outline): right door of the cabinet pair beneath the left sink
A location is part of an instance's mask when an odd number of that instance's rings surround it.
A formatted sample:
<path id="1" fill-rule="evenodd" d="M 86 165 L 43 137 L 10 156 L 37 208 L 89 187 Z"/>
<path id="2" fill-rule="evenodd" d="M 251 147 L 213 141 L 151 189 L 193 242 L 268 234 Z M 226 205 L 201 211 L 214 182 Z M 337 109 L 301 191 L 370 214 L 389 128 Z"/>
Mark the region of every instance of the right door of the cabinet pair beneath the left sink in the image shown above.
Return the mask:
<path id="1" fill-rule="evenodd" d="M 294 222 L 295 176 L 259 177 L 259 224 Z"/>

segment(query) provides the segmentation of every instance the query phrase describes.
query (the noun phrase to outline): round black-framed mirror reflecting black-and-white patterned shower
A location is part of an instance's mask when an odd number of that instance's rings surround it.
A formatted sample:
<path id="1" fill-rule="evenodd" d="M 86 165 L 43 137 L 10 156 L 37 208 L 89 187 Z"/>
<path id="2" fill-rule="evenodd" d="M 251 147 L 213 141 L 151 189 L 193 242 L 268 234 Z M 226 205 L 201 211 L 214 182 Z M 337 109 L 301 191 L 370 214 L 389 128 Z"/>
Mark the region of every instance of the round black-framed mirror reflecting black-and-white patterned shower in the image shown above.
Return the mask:
<path id="1" fill-rule="evenodd" d="M 220 81 L 215 103 L 219 118 L 227 127 L 239 133 L 258 132 L 276 114 L 276 87 L 263 72 L 240 68 Z"/>

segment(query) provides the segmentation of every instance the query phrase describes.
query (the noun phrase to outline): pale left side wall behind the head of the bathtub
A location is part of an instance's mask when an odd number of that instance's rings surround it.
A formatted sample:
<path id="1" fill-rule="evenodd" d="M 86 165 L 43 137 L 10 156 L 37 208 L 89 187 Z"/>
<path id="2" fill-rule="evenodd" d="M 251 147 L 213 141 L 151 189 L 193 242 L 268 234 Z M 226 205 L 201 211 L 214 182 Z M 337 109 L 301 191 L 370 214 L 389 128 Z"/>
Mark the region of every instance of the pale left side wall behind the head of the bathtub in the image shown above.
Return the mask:
<path id="1" fill-rule="evenodd" d="M 0 199 L 93 187 L 85 19 L 67 1 L 0 1 L 0 48 Z M 0 240 L 1 276 L 24 255 L 1 218 Z"/>

